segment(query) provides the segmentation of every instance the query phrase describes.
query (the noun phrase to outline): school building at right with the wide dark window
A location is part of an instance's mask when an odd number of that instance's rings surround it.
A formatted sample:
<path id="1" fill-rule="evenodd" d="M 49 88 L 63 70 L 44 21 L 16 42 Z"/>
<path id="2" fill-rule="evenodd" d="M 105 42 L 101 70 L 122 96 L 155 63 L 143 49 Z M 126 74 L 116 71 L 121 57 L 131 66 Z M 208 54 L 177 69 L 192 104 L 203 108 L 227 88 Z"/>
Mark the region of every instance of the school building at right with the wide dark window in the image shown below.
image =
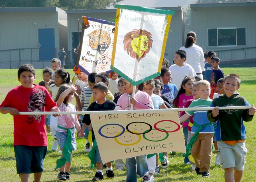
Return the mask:
<path id="1" fill-rule="evenodd" d="M 191 31 L 196 33 L 196 44 L 204 51 L 215 51 L 221 63 L 256 61 L 256 2 L 190 7 Z"/>

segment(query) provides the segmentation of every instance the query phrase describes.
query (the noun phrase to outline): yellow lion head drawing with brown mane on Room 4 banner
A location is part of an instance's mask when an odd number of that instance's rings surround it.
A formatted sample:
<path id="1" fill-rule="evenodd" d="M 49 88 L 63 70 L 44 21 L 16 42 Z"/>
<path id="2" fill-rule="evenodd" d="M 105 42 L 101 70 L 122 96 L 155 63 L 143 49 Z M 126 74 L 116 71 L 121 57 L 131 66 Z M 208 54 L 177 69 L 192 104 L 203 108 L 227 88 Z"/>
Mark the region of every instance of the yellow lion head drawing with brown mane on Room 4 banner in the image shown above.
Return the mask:
<path id="1" fill-rule="evenodd" d="M 124 51 L 138 62 L 146 56 L 152 47 L 152 34 L 146 30 L 134 29 L 124 36 Z"/>

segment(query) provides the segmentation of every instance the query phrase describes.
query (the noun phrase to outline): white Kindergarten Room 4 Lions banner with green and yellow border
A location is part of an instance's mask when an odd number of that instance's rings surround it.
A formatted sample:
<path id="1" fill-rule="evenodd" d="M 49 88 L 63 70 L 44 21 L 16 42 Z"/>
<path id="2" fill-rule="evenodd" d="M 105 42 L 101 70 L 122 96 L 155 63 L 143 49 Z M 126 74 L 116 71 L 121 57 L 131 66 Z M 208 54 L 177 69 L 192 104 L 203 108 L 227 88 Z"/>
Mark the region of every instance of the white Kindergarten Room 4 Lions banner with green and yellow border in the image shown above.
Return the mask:
<path id="1" fill-rule="evenodd" d="M 174 11 L 119 4 L 115 8 L 111 69 L 133 85 L 159 76 Z"/>

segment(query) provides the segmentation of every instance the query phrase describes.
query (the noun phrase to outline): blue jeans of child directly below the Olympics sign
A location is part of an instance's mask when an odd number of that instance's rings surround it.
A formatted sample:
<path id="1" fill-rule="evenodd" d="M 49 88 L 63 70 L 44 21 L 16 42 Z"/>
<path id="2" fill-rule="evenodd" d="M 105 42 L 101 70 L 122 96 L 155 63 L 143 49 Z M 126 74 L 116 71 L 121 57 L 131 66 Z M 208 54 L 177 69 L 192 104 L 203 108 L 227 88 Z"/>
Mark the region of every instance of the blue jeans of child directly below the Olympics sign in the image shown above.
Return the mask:
<path id="1" fill-rule="evenodd" d="M 140 177 L 148 172 L 148 160 L 146 155 L 140 155 L 126 160 L 126 182 L 137 182 L 137 174 Z"/>

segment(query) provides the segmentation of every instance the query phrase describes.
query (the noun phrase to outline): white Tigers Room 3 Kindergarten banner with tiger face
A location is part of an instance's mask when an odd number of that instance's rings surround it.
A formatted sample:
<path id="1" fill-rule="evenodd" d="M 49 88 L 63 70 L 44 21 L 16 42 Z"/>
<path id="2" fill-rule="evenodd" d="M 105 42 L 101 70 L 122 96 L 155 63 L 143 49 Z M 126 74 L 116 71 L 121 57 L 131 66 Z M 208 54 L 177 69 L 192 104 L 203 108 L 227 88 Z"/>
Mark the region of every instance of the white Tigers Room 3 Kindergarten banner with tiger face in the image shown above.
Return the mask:
<path id="1" fill-rule="evenodd" d="M 89 27 L 82 27 L 78 67 L 86 74 L 111 72 L 114 23 L 86 17 Z M 83 17 L 84 19 L 84 17 Z M 78 61 L 78 60 L 77 60 Z"/>

